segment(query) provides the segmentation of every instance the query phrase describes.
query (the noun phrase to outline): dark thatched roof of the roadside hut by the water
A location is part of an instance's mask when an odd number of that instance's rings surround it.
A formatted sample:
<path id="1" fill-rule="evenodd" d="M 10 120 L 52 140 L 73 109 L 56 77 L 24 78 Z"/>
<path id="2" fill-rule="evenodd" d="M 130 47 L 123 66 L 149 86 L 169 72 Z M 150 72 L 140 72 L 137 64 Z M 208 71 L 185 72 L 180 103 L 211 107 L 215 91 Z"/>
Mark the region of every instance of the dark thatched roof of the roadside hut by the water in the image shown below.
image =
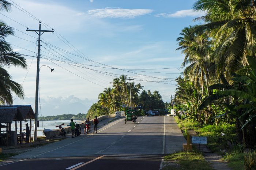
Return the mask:
<path id="1" fill-rule="evenodd" d="M 0 106 L 0 123 L 34 118 L 35 113 L 31 105 Z"/>

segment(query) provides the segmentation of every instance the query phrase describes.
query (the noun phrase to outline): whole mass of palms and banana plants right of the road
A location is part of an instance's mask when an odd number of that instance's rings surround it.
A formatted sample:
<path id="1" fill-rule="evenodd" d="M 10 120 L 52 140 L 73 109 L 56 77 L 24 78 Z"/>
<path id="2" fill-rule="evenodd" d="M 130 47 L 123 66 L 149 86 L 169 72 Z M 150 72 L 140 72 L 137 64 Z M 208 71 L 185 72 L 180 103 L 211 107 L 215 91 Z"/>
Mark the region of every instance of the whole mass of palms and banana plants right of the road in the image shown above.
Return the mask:
<path id="1" fill-rule="evenodd" d="M 205 16 L 177 38 L 185 69 L 175 99 L 202 124 L 236 122 L 238 142 L 255 146 L 256 2 L 197 0 L 193 10 Z"/>

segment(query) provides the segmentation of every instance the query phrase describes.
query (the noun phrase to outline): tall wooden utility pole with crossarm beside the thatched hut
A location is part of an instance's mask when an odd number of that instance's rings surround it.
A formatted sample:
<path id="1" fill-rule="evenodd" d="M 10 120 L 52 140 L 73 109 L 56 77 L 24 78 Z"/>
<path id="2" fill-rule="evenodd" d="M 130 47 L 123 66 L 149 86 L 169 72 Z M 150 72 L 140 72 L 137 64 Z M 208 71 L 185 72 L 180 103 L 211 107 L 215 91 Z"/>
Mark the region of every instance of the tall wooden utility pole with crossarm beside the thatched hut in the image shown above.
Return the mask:
<path id="1" fill-rule="evenodd" d="M 41 35 L 44 34 L 44 32 L 50 32 L 53 33 L 50 30 L 41 30 L 41 22 L 39 22 L 39 30 L 29 30 L 27 28 L 26 31 L 34 31 L 38 32 L 38 51 L 37 51 L 37 80 L 35 84 L 35 120 L 34 120 L 34 136 L 33 136 L 33 141 L 37 140 L 37 118 L 38 118 L 38 91 L 39 91 L 39 61 L 40 61 L 40 42 L 41 42 Z M 41 34 L 42 32 L 42 34 Z"/>

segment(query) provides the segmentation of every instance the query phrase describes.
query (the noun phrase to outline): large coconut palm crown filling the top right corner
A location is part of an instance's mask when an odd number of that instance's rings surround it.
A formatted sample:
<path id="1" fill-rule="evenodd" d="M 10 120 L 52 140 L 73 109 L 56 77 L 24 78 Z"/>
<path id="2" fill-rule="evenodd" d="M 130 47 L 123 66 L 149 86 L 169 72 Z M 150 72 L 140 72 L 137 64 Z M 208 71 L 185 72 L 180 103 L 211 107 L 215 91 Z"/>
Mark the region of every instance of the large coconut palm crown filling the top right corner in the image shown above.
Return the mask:
<path id="1" fill-rule="evenodd" d="M 194 32 L 207 31 L 215 40 L 212 57 L 217 59 L 218 73 L 226 75 L 247 65 L 245 56 L 256 55 L 256 7 L 254 0 L 197 0 L 193 6 L 206 15 L 196 18 L 205 24 Z"/>

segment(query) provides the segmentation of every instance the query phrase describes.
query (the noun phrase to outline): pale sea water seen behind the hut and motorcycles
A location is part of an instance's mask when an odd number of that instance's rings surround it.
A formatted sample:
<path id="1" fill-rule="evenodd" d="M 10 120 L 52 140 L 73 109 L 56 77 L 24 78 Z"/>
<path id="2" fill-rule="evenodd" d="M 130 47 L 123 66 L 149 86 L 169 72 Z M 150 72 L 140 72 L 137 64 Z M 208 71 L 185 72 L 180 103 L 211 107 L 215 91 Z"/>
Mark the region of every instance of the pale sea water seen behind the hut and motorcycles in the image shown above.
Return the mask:
<path id="1" fill-rule="evenodd" d="M 81 124 L 82 122 L 84 122 L 85 120 L 74 120 L 74 122 L 77 122 L 79 124 Z M 47 121 L 39 121 L 39 128 L 37 128 L 37 137 L 45 137 L 44 133 L 43 133 L 43 130 L 44 129 L 59 129 L 59 127 L 55 127 L 55 126 L 59 126 L 61 124 L 64 123 L 64 125 L 62 125 L 62 127 L 66 127 L 69 125 L 69 122 L 70 120 L 47 120 Z M 26 123 L 29 124 L 30 126 L 30 122 L 24 122 L 22 121 L 22 130 L 23 129 L 26 129 Z M 32 120 L 31 121 L 31 125 L 32 125 L 32 128 L 31 128 L 31 136 L 34 135 L 34 121 Z M 15 121 L 12 122 L 11 124 L 11 131 L 15 131 Z M 19 133 L 20 131 L 20 123 L 17 122 L 17 133 Z M 22 132 L 26 132 L 26 131 L 22 131 Z"/>

